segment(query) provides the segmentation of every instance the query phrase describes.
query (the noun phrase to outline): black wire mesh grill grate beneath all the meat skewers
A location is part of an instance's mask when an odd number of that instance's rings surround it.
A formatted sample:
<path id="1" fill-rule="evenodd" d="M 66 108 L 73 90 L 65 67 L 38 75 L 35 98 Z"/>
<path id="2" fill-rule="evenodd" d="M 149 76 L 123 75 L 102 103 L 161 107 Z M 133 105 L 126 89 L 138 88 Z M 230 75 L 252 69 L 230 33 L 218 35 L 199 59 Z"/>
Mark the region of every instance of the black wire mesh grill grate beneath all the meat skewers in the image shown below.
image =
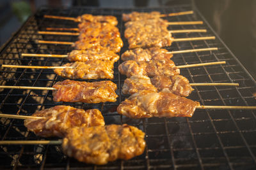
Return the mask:
<path id="1" fill-rule="evenodd" d="M 77 27 L 76 22 L 43 18 L 44 15 L 77 17 L 83 13 L 114 15 L 124 41 L 120 54 L 128 49 L 124 38 L 122 13 L 132 11 L 160 11 L 172 13 L 191 10 L 191 6 L 168 8 L 40 8 L 3 46 L 0 64 L 61 66 L 67 59 L 21 57 L 21 53 L 66 54 L 68 45 L 42 45 L 36 40 L 76 41 L 76 36 L 40 35 L 46 27 Z M 170 29 L 207 29 L 207 32 L 173 34 L 175 38 L 216 36 L 215 40 L 174 42 L 167 49 L 186 50 L 218 47 L 214 52 L 175 54 L 177 66 L 201 62 L 227 61 L 225 65 L 191 67 L 182 69 L 191 83 L 239 83 L 239 87 L 194 87 L 188 97 L 202 105 L 255 106 L 253 92 L 256 83 L 252 76 L 230 52 L 218 35 L 196 9 L 194 15 L 167 17 L 169 21 L 204 20 L 203 25 L 172 25 Z M 133 120 L 116 113 L 125 95 L 121 93 L 125 76 L 118 73 L 115 64 L 114 83 L 118 85 L 116 103 L 54 103 L 52 92 L 47 90 L 0 89 L 1 113 L 31 115 L 36 110 L 64 104 L 76 108 L 97 108 L 102 111 L 106 124 L 134 125 L 146 133 L 147 146 L 143 155 L 131 160 L 117 160 L 105 166 L 93 166 L 66 157 L 60 145 L 3 145 L 0 148 L 0 169 L 255 169 L 256 167 L 256 115 L 250 110 L 196 110 L 192 118 L 145 118 Z M 51 87 L 63 78 L 52 70 L 2 68 L 1 85 Z M 93 81 L 93 80 L 90 80 Z M 23 120 L 0 118 L 1 140 L 40 140 L 28 132 Z M 56 138 L 49 138 L 56 139 Z"/>

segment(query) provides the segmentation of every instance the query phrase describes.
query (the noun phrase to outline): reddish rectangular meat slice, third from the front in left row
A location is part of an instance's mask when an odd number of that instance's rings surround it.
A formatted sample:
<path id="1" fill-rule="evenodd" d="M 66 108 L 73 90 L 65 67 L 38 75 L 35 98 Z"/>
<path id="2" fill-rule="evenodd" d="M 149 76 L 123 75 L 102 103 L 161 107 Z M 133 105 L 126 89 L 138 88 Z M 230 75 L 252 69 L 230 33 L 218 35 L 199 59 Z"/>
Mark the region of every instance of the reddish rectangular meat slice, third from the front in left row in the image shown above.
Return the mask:
<path id="1" fill-rule="evenodd" d="M 53 101 L 104 103 L 115 102 L 116 84 L 112 81 L 86 81 L 64 80 L 53 85 Z"/>

